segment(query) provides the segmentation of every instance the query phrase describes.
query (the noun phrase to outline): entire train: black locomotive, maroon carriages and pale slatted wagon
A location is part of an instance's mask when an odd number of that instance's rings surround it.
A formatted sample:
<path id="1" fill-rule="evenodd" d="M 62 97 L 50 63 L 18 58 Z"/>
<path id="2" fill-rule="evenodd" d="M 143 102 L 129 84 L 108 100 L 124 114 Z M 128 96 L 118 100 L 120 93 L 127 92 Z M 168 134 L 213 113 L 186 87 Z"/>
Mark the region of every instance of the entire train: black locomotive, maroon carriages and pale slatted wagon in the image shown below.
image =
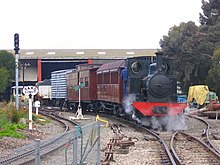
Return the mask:
<path id="1" fill-rule="evenodd" d="M 162 52 L 103 65 L 80 64 L 75 69 L 56 71 L 52 75 L 52 100 L 73 111 L 80 106 L 83 112 L 149 119 L 175 116 L 186 108 L 186 104 L 177 102 L 172 59 Z M 58 98 L 61 95 L 62 98 Z"/>

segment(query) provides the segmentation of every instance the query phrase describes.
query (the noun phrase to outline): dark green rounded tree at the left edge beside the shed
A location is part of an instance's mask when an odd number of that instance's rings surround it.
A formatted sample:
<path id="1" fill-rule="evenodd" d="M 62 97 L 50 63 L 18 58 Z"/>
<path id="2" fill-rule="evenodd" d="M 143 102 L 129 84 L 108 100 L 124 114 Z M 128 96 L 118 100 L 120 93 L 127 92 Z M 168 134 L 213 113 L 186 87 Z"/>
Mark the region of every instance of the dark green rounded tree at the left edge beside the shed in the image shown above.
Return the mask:
<path id="1" fill-rule="evenodd" d="M 10 85 L 15 75 L 15 58 L 14 55 L 2 50 L 0 51 L 0 92 Z"/>

